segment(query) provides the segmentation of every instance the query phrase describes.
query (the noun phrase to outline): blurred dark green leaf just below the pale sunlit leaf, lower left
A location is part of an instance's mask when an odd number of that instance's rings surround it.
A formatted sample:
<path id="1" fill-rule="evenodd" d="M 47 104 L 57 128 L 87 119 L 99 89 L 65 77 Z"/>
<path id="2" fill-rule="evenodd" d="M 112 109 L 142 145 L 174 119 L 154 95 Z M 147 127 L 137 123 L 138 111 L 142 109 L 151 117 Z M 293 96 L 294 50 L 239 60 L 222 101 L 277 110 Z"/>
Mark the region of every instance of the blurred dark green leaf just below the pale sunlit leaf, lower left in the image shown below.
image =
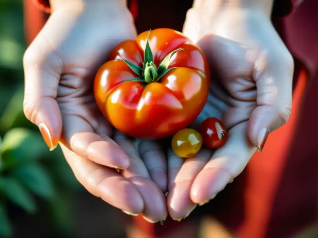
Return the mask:
<path id="1" fill-rule="evenodd" d="M 28 189 L 46 199 L 54 198 L 54 187 L 50 175 L 36 163 L 17 166 L 13 175 Z"/>

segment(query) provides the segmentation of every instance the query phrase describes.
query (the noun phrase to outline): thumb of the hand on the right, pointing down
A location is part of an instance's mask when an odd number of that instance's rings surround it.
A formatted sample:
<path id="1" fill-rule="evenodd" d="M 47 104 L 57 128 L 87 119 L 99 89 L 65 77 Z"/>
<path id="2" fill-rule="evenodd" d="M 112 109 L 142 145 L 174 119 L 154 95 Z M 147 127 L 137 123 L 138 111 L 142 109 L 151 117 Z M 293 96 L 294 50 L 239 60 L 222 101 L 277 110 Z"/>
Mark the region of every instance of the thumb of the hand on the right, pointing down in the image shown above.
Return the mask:
<path id="1" fill-rule="evenodd" d="M 293 72 L 293 58 L 286 48 L 283 51 L 276 50 L 272 55 L 261 52 L 254 64 L 253 77 L 256 82 L 258 106 L 252 111 L 247 133 L 260 152 L 269 133 L 289 119 Z"/>

